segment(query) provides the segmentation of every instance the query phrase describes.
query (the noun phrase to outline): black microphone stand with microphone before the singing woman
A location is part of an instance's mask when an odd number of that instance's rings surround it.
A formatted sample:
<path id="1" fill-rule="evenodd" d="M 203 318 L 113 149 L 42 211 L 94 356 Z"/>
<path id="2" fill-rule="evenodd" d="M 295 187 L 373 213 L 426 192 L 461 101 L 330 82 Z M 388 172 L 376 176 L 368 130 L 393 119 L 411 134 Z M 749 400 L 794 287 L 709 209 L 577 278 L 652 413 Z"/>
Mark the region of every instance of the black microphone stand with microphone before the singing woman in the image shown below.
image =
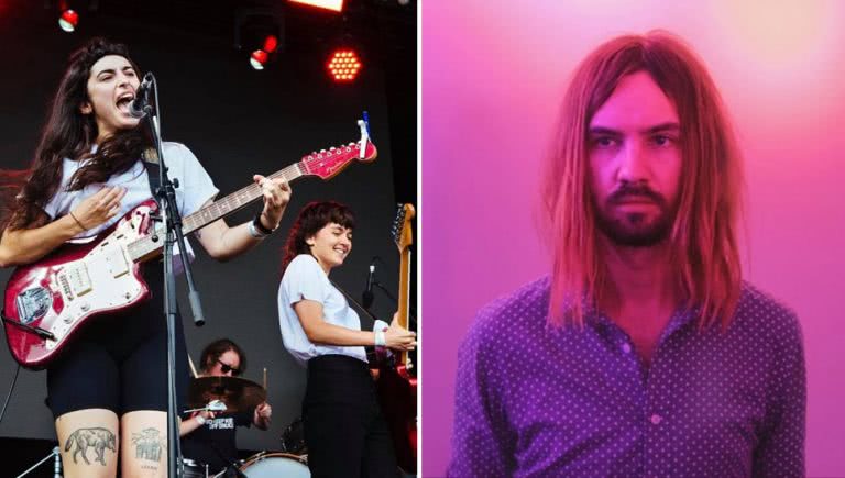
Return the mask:
<path id="1" fill-rule="evenodd" d="M 190 262 L 185 258 L 188 248 L 185 243 L 185 235 L 182 233 L 182 215 L 176 203 L 176 188 L 179 186 L 178 179 L 171 180 L 167 177 L 167 167 L 164 163 L 164 151 L 162 148 L 161 135 L 161 115 L 158 113 L 158 85 L 152 74 L 153 91 L 155 92 L 155 109 L 147 103 L 144 105 L 144 119 L 150 127 L 150 132 L 155 143 L 155 149 L 158 153 L 158 188 L 155 199 L 158 202 L 161 216 L 158 221 L 165 224 L 164 240 L 164 314 L 167 321 L 167 476 L 183 476 L 182 451 L 179 446 L 179 422 L 176 411 L 178 401 L 176 398 L 176 280 L 173 270 L 173 245 L 177 242 L 179 259 L 182 260 L 185 278 L 188 282 L 190 308 L 194 313 L 194 322 L 199 326 L 205 323 L 202 309 L 199 302 L 199 293 L 194 285 L 194 276 L 190 273 Z M 157 241 L 157 226 L 154 224 L 153 241 Z"/>

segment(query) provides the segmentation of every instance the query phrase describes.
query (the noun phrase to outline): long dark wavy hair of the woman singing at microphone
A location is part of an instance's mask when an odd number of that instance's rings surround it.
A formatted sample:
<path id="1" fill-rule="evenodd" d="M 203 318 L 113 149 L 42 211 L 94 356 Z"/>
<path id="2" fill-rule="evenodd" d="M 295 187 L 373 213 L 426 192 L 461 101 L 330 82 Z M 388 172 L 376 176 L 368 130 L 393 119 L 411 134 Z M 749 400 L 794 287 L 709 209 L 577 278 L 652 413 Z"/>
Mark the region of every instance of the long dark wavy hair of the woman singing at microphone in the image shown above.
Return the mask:
<path id="1" fill-rule="evenodd" d="M 89 100 L 91 67 L 107 55 L 127 58 L 140 75 L 127 46 L 106 38 L 92 38 L 70 55 L 29 169 L 0 171 L 0 230 L 39 227 L 48 221 L 43 207 L 59 187 L 64 158 L 90 158 L 70 180 L 68 189 L 77 191 L 128 170 L 151 144 L 136 127 L 117 132 L 91 153 L 97 123 L 94 114 L 83 114 L 80 107 Z"/>

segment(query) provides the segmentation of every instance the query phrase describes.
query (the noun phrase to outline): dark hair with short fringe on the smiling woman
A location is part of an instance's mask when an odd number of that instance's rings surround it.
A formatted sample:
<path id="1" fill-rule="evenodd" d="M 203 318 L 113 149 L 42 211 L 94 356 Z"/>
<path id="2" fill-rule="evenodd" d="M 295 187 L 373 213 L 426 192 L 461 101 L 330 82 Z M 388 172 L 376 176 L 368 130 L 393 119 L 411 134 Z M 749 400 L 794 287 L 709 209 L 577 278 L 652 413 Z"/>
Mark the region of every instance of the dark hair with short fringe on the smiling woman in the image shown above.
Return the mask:
<path id="1" fill-rule="evenodd" d="M 305 242 L 317 234 L 326 224 L 340 224 L 345 229 L 355 229 L 355 215 L 348 205 L 334 201 L 309 202 L 299 211 L 290 233 L 283 247 L 282 274 L 287 265 L 299 254 L 310 254 L 311 249 Z"/>

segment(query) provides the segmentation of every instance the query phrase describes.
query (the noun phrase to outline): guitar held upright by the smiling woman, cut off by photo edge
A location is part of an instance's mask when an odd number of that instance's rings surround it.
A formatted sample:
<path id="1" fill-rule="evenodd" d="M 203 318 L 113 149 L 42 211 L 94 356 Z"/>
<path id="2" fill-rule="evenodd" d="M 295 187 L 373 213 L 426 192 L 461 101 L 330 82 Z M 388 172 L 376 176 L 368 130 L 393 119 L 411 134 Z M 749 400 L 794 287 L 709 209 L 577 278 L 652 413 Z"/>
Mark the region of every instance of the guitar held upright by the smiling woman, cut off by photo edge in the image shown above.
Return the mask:
<path id="1" fill-rule="evenodd" d="M 393 224 L 393 236 L 399 248 L 399 311 L 397 322 L 408 329 L 410 304 L 410 245 L 414 242 L 410 227 L 415 211 L 410 204 L 399 207 Z M 396 462 L 408 474 L 417 473 L 417 377 L 408 360 L 408 353 L 393 356 L 391 364 L 382 364 L 376 389 L 382 412 L 387 419 L 396 451 Z"/>

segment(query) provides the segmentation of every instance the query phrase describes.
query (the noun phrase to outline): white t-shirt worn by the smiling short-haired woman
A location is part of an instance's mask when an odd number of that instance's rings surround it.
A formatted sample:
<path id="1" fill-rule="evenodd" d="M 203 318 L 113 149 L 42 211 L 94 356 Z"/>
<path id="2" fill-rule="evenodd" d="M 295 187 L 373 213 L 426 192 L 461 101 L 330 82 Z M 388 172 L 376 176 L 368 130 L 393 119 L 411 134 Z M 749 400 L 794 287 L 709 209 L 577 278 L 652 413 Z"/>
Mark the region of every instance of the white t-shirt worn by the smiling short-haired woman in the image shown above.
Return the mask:
<path id="1" fill-rule="evenodd" d="M 312 344 L 305 335 L 299 316 L 294 311 L 294 304 L 303 299 L 320 302 L 326 322 L 354 331 L 361 330 L 358 313 L 334 288 L 317 259 L 308 254 L 296 256 L 285 269 L 282 284 L 278 285 L 278 325 L 285 348 L 299 364 L 305 365 L 310 358 L 328 354 L 348 355 L 367 362 L 366 352 L 362 346 Z"/>

